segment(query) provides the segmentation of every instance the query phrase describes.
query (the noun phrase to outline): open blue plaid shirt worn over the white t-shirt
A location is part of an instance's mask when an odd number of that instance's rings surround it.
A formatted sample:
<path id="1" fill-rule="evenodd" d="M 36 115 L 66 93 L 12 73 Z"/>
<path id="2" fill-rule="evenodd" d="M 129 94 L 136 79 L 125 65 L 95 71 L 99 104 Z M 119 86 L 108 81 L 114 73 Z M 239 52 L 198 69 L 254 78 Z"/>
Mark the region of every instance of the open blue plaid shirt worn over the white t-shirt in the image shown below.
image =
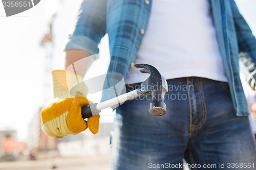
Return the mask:
<path id="1" fill-rule="evenodd" d="M 233 0 L 210 0 L 220 52 L 231 97 L 238 116 L 249 114 L 239 76 L 239 53 L 256 63 L 256 39 Z M 73 35 L 65 50 L 99 52 L 98 44 L 108 33 L 111 61 L 109 72 L 124 80 L 129 74 L 146 31 L 152 0 L 85 0 Z"/>

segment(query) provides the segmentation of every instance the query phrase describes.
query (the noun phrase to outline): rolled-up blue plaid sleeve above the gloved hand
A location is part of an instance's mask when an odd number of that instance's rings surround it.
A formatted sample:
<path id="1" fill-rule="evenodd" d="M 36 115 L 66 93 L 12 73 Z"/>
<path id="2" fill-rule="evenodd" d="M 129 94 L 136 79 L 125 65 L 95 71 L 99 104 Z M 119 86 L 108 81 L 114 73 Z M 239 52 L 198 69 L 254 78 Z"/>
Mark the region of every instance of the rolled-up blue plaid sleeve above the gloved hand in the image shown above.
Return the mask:
<path id="1" fill-rule="evenodd" d="M 65 50 L 99 53 L 98 44 L 106 34 L 106 0 L 84 0 L 81 4 L 73 35 Z"/>

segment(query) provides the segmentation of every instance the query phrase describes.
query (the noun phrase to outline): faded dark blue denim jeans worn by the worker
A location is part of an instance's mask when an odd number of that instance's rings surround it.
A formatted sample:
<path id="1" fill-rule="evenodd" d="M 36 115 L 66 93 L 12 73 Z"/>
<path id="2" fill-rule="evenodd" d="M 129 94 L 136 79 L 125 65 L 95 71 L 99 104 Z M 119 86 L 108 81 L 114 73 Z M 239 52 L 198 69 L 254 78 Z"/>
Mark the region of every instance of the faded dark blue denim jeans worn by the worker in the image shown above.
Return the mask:
<path id="1" fill-rule="evenodd" d="M 112 169 L 182 169 L 183 158 L 191 169 L 256 168 L 248 117 L 236 116 L 227 83 L 198 77 L 167 83 L 165 115 L 148 112 L 150 98 L 116 109 Z"/>

